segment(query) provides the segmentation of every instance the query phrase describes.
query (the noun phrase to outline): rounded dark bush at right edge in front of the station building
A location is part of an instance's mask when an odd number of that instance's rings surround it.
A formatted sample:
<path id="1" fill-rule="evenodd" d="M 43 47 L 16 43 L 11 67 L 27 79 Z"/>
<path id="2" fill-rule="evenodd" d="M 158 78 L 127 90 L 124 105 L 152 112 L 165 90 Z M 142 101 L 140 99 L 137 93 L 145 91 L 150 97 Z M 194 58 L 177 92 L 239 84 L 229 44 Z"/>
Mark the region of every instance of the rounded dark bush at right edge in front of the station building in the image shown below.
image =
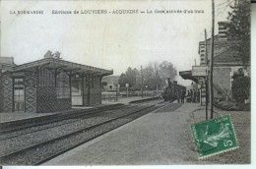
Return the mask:
<path id="1" fill-rule="evenodd" d="M 251 92 L 249 77 L 236 78 L 232 84 L 232 96 L 237 102 L 244 102 L 248 99 Z"/>

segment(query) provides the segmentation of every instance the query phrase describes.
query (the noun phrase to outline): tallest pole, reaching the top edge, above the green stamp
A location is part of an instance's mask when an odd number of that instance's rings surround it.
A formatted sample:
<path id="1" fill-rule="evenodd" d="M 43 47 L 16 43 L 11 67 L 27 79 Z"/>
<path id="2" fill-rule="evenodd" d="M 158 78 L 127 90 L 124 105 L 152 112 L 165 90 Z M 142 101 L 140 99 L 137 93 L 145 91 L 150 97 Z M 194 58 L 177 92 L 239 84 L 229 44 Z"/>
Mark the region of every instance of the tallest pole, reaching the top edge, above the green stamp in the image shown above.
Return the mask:
<path id="1" fill-rule="evenodd" d="M 211 38 L 211 60 L 210 60 L 210 109 L 211 119 L 214 118 L 214 51 L 215 51 L 215 0 L 212 0 L 212 38 Z"/>

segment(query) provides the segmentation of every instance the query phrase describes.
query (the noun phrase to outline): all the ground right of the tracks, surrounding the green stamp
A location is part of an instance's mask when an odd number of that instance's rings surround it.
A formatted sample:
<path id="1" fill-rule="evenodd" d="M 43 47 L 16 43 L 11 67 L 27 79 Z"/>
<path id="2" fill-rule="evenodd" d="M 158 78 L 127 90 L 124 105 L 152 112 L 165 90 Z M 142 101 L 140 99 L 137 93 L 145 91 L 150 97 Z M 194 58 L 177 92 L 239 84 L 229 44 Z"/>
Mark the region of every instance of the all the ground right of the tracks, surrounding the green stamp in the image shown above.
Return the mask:
<path id="1" fill-rule="evenodd" d="M 172 103 L 44 165 L 250 163 L 250 112 L 245 111 L 215 110 L 215 115 L 231 115 L 240 147 L 204 160 L 197 159 L 190 124 L 205 120 L 203 108 L 195 103 Z"/>

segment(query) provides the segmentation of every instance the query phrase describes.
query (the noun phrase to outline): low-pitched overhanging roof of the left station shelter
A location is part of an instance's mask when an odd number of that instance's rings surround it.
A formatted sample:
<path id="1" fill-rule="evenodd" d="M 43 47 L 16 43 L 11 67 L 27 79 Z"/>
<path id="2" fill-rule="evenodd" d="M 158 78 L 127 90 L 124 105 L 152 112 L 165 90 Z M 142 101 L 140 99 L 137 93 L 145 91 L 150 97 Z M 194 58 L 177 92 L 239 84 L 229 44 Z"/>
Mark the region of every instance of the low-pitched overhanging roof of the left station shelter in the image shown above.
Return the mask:
<path id="1" fill-rule="evenodd" d="M 86 73 L 86 74 L 98 74 L 101 76 L 112 75 L 113 70 L 104 70 L 92 66 L 82 65 L 78 63 L 68 62 L 56 58 L 45 58 L 30 63 L 14 66 L 11 72 L 19 72 L 32 68 L 44 67 L 49 69 L 61 69 L 63 71 L 73 71 L 76 73 Z"/>

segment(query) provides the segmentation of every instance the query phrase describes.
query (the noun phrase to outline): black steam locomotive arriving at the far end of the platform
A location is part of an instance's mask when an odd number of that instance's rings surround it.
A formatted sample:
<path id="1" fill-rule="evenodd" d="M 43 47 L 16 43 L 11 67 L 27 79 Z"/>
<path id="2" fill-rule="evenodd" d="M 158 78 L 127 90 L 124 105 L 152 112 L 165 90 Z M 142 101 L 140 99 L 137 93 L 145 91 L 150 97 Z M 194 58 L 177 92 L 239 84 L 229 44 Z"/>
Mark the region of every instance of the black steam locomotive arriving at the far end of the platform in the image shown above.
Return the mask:
<path id="1" fill-rule="evenodd" d="M 180 84 L 177 84 L 176 81 L 170 82 L 168 78 L 168 85 L 165 87 L 162 97 L 164 101 L 174 101 L 177 100 L 180 102 L 182 92 L 186 93 L 186 87 Z"/>

